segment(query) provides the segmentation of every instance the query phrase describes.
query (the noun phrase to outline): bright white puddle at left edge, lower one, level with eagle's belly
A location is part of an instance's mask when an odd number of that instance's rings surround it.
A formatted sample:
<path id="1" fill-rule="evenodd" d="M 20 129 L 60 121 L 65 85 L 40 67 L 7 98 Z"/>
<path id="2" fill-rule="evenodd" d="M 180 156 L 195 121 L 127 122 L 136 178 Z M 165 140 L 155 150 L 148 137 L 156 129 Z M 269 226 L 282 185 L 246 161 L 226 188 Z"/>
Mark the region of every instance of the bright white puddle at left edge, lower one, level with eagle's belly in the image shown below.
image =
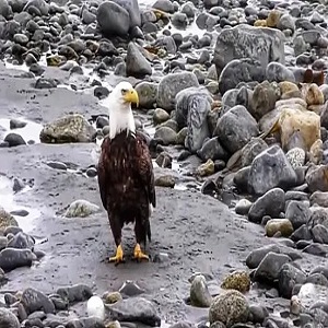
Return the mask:
<path id="1" fill-rule="evenodd" d="M 1 196 L 0 206 L 7 212 L 21 211 L 21 210 L 27 211 L 28 214 L 25 216 L 21 216 L 21 215 L 13 215 L 13 216 L 17 221 L 19 226 L 25 233 L 30 233 L 34 227 L 33 221 L 40 215 L 40 211 L 35 208 L 27 208 L 27 207 L 20 206 L 15 201 L 15 195 L 14 195 L 12 188 L 13 188 L 13 181 L 3 175 L 2 176 L 0 175 L 0 196 Z M 21 195 L 24 192 L 28 192 L 28 190 L 31 190 L 31 187 L 26 186 L 24 189 L 19 191 L 19 194 Z"/>

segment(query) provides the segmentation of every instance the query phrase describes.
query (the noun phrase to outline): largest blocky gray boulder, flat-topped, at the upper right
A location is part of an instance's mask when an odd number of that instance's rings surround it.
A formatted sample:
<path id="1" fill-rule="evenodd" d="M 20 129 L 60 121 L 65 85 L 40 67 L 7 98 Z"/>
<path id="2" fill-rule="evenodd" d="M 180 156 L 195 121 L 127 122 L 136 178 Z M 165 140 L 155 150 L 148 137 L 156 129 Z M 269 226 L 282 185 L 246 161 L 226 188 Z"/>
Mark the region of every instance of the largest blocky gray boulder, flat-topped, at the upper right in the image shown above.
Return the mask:
<path id="1" fill-rule="evenodd" d="M 239 24 L 219 34 L 213 62 L 218 75 L 232 60 L 253 58 L 266 70 L 271 61 L 284 63 L 284 35 L 281 31 Z"/>

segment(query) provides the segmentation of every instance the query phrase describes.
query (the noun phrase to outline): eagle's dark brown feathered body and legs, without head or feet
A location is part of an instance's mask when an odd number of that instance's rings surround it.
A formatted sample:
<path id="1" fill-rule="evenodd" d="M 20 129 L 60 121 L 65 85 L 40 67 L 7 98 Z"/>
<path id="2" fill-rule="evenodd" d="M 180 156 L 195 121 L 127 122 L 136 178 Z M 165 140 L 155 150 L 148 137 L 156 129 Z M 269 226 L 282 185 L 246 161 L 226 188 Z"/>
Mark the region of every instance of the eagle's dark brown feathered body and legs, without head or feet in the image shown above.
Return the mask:
<path id="1" fill-rule="evenodd" d="M 106 137 L 98 162 L 98 185 L 108 213 L 113 236 L 118 246 L 121 229 L 134 222 L 137 243 L 151 239 L 150 204 L 156 206 L 153 165 L 144 137 L 121 131 Z"/>

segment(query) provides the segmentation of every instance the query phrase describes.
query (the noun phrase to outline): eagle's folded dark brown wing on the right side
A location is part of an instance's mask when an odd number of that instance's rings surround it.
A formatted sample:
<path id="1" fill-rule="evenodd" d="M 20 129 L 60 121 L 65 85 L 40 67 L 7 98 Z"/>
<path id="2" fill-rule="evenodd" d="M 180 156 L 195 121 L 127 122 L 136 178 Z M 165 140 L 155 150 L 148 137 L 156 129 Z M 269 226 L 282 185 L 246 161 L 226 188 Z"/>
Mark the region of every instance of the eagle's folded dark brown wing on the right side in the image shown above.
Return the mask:
<path id="1" fill-rule="evenodd" d="M 147 144 L 145 138 L 138 133 L 136 134 L 136 150 L 137 150 L 137 163 L 136 168 L 138 169 L 139 178 L 144 185 L 150 203 L 156 207 L 156 194 L 155 194 L 155 179 L 153 173 L 152 157 Z"/>

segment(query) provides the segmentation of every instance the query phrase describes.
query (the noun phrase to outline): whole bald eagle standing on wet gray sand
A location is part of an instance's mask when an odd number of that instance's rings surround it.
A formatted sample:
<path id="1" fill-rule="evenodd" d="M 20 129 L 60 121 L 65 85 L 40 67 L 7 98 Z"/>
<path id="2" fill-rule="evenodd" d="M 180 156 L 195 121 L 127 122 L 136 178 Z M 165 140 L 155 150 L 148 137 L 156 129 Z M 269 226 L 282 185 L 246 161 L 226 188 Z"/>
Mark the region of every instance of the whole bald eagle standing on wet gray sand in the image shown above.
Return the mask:
<path id="1" fill-rule="evenodd" d="M 108 96 L 109 134 L 104 138 L 98 161 L 98 186 L 116 244 L 109 261 L 124 261 L 121 230 L 134 223 L 137 260 L 147 259 L 140 244 L 151 242 L 150 215 L 156 206 L 153 164 L 145 138 L 136 131 L 131 103 L 139 104 L 137 91 L 120 82 Z"/>

